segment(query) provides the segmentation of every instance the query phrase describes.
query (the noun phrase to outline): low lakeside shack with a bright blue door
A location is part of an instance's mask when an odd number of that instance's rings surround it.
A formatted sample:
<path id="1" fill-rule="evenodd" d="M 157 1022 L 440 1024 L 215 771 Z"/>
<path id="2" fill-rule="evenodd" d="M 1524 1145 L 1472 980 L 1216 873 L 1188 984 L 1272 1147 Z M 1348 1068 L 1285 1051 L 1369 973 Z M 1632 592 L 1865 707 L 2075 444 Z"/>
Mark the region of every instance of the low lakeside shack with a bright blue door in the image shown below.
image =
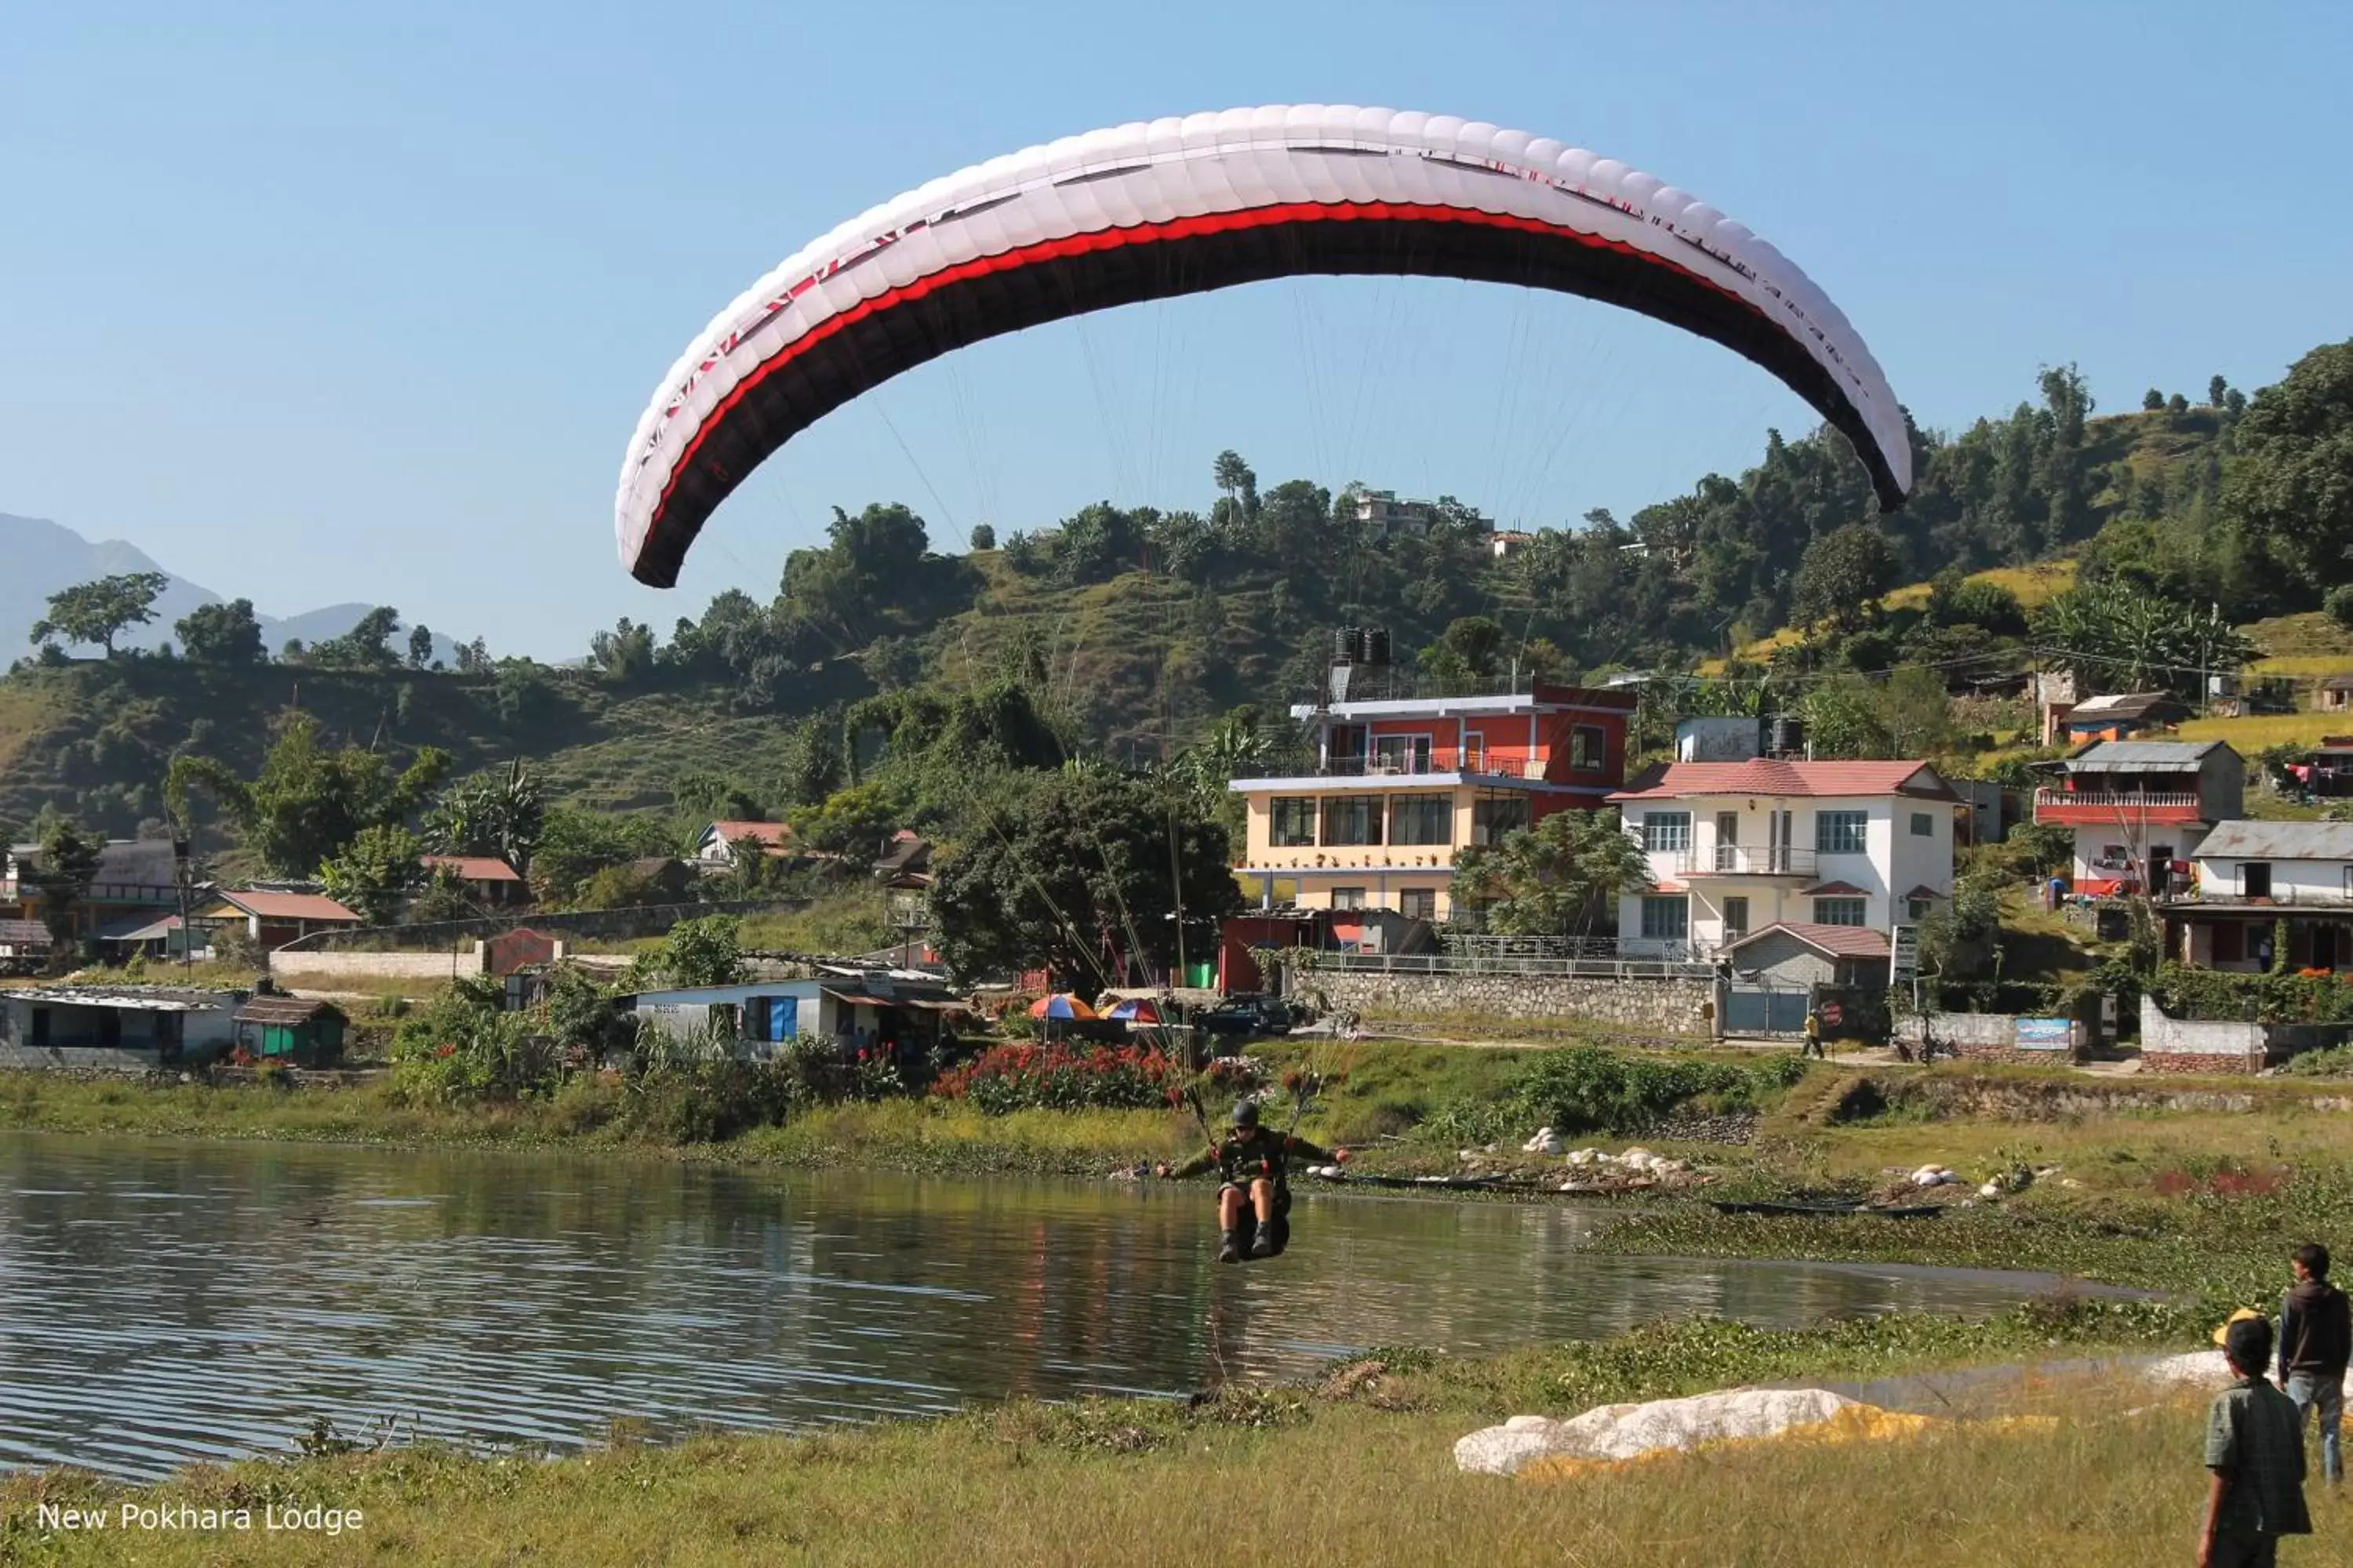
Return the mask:
<path id="1" fill-rule="evenodd" d="M 831 1039 L 845 1053 L 882 1044 L 927 1051 L 969 1011 L 936 976 L 906 969 L 687 985 L 616 997 L 614 1006 L 673 1041 L 708 1041 L 751 1060 L 795 1039 Z"/>

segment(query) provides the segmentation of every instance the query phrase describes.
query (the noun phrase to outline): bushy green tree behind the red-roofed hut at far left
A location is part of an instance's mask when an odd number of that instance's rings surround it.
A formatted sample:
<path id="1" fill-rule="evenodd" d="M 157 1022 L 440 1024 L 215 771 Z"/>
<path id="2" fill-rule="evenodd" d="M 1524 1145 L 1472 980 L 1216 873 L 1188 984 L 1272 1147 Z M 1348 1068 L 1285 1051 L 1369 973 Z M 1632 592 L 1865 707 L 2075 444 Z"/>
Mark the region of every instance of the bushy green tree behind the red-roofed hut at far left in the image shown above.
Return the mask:
<path id="1" fill-rule="evenodd" d="M 216 757 L 174 757 L 165 773 L 165 804 L 174 820 L 186 823 L 188 792 L 202 790 L 273 875 L 313 877 L 362 827 L 405 823 L 447 771 L 449 752 L 433 745 L 421 748 L 400 773 L 379 752 L 332 752 L 320 745 L 318 719 L 299 712 L 252 780 Z"/>

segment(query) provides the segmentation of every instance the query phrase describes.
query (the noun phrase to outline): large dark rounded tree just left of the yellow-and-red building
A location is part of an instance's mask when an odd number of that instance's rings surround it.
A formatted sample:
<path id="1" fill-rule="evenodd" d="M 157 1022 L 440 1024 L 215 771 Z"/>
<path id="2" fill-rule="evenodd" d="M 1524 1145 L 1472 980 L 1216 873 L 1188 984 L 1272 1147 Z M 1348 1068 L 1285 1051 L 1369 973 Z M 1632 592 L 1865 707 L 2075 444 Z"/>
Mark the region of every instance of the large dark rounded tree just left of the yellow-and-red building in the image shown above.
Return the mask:
<path id="1" fill-rule="evenodd" d="M 1094 980 L 1118 976 L 1122 957 L 1167 966 L 1179 907 L 1188 926 L 1240 907 L 1228 846 L 1186 795 L 1141 778 L 1000 776 L 965 842 L 934 863 L 939 952 L 960 976 L 1045 966 Z"/>

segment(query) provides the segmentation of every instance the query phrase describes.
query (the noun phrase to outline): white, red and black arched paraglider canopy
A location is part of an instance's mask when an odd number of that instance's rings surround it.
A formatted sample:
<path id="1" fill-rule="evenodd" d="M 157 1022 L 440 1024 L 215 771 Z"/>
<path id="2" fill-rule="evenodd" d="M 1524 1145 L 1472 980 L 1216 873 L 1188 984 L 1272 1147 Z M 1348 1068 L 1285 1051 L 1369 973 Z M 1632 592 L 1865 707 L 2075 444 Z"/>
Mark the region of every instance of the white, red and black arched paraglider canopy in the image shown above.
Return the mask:
<path id="1" fill-rule="evenodd" d="M 621 564 L 678 581 L 711 512 L 816 418 L 1038 322 L 1306 273 L 1584 294 L 1755 360 L 1852 444 L 1880 505 L 1911 435 L 1847 317 L 1687 190 L 1452 115 L 1235 108 L 1120 125 L 962 169 L 805 244 L 671 367 L 621 463 Z"/>

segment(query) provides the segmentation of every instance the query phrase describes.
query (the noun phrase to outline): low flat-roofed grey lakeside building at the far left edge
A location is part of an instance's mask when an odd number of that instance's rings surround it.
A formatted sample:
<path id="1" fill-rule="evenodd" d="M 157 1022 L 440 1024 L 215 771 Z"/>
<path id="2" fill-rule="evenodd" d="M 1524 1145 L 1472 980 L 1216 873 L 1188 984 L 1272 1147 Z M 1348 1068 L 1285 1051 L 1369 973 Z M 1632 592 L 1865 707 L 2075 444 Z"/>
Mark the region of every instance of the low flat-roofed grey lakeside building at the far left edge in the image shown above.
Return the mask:
<path id="1" fill-rule="evenodd" d="M 0 1065 L 195 1067 L 228 1053 L 240 999 L 174 985 L 0 990 Z"/>

